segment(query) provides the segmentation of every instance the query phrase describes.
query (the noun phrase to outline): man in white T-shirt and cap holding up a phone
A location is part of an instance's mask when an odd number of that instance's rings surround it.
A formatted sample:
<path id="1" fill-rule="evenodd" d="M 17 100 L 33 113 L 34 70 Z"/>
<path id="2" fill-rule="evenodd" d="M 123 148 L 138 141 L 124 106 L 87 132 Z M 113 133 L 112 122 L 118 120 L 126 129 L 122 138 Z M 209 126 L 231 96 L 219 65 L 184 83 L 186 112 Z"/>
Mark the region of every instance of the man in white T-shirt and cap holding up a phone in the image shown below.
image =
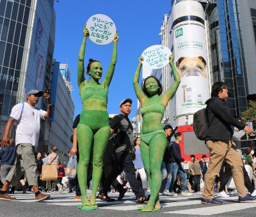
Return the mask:
<path id="1" fill-rule="evenodd" d="M 35 107 L 39 97 L 44 96 L 47 100 L 47 112 Z M 17 121 L 15 144 L 17 154 L 15 162 L 10 170 L 3 188 L 0 191 L 0 200 L 16 200 L 15 197 L 10 197 L 6 190 L 11 183 L 15 183 L 26 172 L 29 185 L 35 192 L 35 201 L 41 201 L 49 198 L 50 195 L 41 193 L 36 184 L 36 163 L 35 163 L 35 147 L 38 144 L 40 132 L 40 119 L 52 117 L 51 96 L 48 93 L 43 93 L 38 90 L 31 90 L 27 94 L 27 101 L 19 103 L 12 108 L 10 118 L 8 119 L 4 131 L 4 136 L 1 141 L 1 147 L 8 144 L 10 129 L 12 124 Z"/>

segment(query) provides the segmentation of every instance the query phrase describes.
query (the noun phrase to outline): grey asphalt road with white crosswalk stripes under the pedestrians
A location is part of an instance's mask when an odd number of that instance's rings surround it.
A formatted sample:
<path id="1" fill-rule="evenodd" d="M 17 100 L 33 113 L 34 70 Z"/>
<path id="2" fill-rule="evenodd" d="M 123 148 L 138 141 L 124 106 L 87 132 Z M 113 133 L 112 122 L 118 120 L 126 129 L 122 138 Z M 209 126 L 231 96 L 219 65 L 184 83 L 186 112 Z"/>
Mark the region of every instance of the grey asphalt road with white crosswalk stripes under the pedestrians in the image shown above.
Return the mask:
<path id="1" fill-rule="evenodd" d="M 88 193 L 90 195 L 90 193 Z M 12 197 L 16 201 L 0 200 L 0 216 L 255 216 L 256 200 L 250 203 L 238 203 L 237 194 L 223 199 L 222 205 L 201 204 L 202 195 L 193 193 L 191 196 L 160 196 L 161 211 L 142 213 L 137 210 L 140 204 L 135 203 L 133 193 L 127 193 L 122 200 L 117 200 L 118 193 L 109 193 L 109 197 L 116 198 L 115 202 L 103 202 L 97 199 L 99 209 L 83 211 L 77 207 L 81 202 L 74 200 L 75 193 L 51 193 L 51 198 L 42 202 L 35 202 L 35 194 L 28 192 L 23 195 L 16 192 Z"/>

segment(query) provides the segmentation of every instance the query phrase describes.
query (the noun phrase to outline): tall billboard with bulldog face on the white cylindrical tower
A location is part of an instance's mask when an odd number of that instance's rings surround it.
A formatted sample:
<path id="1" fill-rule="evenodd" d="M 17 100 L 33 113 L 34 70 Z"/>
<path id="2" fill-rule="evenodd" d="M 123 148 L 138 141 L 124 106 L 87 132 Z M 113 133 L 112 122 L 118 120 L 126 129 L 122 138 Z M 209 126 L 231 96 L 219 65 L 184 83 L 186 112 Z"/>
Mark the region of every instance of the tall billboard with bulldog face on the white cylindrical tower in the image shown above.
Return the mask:
<path id="1" fill-rule="evenodd" d="M 184 25 L 175 29 L 173 37 L 174 64 L 181 80 L 176 92 L 178 116 L 206 107 L 205 101 L 209 99 L 208 63 L 204 27 Z"/>

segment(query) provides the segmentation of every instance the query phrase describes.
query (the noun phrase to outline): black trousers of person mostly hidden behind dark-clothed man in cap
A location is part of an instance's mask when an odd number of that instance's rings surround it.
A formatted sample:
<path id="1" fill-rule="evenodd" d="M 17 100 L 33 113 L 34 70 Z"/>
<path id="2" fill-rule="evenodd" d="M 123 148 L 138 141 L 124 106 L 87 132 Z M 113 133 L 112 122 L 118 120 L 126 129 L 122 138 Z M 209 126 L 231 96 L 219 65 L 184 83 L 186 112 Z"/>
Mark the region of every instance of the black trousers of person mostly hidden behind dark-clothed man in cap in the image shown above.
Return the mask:
<path id="1" fill-rule="evenodd" d="M 102 172 L 102 177 L 100 179 L 100 188 L 102 188 L 102 186 L 108 179 L 109 174 L 111 174 L 111 172 L 113 171 L 114 165 L 115 165 L 115 158 L 113 157 L 113 154 L 109 154 L 105 152 L 104 158 L 103 158 L 103 172 Z M 117 179 L 113 181 L 112 186 L 119 192 L 121 192 L 124 189 L 122 184 L 120 184 Z"/>

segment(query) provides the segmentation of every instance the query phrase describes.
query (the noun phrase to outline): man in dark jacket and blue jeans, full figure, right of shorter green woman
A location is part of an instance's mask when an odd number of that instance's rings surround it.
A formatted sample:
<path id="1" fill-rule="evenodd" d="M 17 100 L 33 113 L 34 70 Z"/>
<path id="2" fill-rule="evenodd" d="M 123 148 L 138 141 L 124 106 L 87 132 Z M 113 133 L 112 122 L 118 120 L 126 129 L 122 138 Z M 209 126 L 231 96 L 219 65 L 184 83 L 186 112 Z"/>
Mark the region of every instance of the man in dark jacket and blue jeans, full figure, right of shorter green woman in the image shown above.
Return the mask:
<path id="1" fill-rule="evenodd" d="M 177 195 L 177 193 L 174 193 L 173 191 L 173 184 L 176 180 L 177 173 L 179 172 L 180 177 L 182 177 L 182 184 L 180 185 L 181 195 L 192 195 L 192 193 L 188 192 L 187 174 L 181 165 L 181 162 L 188 163 L 188 161 L 184 160 L 181 157 L 181 153 L 180 153 L 179 144 L 182 141 L 182 135 L 181 133 L 175 133 L 174 136 L 175 136 L 175 142 L 172 144 L 172 147 L 171 147 L 171 152 L 173 155 L 172 163 L 171 163 L 173 179 L 172 179 L 172 183 L 169 191 L 171 191 L 173 195 Z"/>

